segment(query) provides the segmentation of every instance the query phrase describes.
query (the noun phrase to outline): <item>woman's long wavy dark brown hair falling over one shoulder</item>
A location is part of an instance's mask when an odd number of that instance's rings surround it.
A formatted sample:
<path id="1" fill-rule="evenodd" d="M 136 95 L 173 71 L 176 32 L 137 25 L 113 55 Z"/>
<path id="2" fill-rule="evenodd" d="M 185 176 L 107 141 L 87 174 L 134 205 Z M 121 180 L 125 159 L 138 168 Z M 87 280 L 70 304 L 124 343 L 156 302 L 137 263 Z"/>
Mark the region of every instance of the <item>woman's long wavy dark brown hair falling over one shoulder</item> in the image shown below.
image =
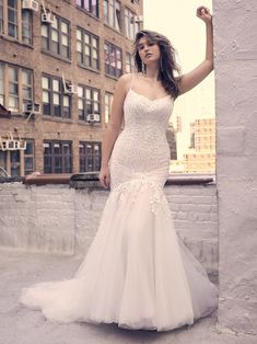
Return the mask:
<path id="1" fill-rule="evenodd" d="M 142 71 L 142 60 L 138 53 L 138 44 L 140 38 L 145 37 L 151 43 L 156 43 L 161 50 L 159 80 L 168 94 L 177 98 L 179 93 L 178 81 L 180 78 L 180 68 L 175 60 L 176 50 L 171 42 L 164 35 L 154 31 L 141 30 L 136 35 L 135 41 L 135 65 L 138 71 Z M 175 77 L 174 73 L 177 73 Z"/>

